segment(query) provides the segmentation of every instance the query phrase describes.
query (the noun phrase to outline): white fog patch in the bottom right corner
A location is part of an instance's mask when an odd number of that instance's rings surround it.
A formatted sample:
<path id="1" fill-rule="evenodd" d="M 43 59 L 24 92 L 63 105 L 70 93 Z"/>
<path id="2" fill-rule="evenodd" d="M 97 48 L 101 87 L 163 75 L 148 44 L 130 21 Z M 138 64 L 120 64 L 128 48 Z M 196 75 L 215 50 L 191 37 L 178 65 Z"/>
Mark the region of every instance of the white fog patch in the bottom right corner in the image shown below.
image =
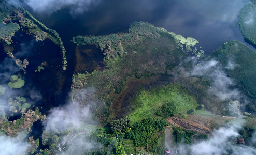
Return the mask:
<path id="1" fill-rule="evenodd" d="M 207 141 L 190 146 L 192 154 L 255 154 L 256 149 L 236 144 L 237 138 L 241 137 L 238 131 L 242 129 L 244 123 L 243 119 L 236 119 L 228 127 L 214 130 L 212 137 Z"/>

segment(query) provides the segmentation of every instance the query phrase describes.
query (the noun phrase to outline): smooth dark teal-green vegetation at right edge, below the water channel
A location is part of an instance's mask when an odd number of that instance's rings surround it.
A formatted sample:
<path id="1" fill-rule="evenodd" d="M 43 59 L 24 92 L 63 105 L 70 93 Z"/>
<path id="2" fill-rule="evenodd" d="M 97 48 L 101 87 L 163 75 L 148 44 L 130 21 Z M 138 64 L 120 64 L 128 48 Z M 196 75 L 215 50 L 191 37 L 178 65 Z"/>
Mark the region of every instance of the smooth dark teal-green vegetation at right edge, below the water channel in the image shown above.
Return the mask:
<path id="1" fill-rule="evenodd" d="M 238 41 L 229 41 L 213 52 L 212 57 L 226 67 L 233 61 L 234 69 L 227 69 L 227 75 L 235 79 L 249 97 L 256 99 L 256 51 Z"/>

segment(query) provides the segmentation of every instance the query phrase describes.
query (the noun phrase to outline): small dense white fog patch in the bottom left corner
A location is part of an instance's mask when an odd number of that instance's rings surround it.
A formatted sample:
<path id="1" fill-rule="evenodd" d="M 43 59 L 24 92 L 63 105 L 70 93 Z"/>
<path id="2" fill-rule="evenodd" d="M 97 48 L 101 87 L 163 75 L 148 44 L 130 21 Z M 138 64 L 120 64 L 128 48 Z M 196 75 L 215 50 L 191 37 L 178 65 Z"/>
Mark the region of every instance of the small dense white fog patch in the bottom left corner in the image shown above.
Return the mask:
<path id="1" fill-rule="evenodd" d="M 18 138 L 0 136 L 0 154 L 26 154 L 30 144 L 21 142 Z"/>

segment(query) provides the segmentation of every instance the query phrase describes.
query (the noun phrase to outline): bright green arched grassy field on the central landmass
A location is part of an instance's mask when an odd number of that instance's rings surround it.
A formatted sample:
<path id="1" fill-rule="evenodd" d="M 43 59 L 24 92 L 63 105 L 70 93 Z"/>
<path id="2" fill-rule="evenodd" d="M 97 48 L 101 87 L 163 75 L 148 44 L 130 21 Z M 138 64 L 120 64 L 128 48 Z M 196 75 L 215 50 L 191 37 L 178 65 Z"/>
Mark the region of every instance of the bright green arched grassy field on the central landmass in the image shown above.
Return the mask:
<path id="1" fill-rule="evenodd" d="M 161 106 L 172 102 L 176 107 L 176 114 L 186 114 L 191 108 L 198 106 L 194 97 L 181 86 L 167 85 L 165 87 L 141 90 L 132 102 L 133 113 L 131 121 L 139 121 L 155 116 Z"/>

